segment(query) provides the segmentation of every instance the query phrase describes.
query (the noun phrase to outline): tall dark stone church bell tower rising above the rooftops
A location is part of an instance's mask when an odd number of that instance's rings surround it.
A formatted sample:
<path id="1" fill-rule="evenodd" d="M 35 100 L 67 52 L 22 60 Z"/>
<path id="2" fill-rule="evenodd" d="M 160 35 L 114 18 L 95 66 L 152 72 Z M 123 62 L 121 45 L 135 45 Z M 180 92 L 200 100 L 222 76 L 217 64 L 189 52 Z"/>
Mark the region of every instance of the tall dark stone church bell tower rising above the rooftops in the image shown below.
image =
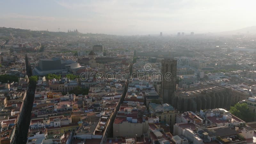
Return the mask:
<path id="1" fill-rule="evenodd" d="M 169 103 L 172 105 L 176 90 L 177 60 L 163 59 L 161 72 L 161 98 L 163 99 L 164 103 Z M 168 77 L 166 73 L 169 73 Z"/>

